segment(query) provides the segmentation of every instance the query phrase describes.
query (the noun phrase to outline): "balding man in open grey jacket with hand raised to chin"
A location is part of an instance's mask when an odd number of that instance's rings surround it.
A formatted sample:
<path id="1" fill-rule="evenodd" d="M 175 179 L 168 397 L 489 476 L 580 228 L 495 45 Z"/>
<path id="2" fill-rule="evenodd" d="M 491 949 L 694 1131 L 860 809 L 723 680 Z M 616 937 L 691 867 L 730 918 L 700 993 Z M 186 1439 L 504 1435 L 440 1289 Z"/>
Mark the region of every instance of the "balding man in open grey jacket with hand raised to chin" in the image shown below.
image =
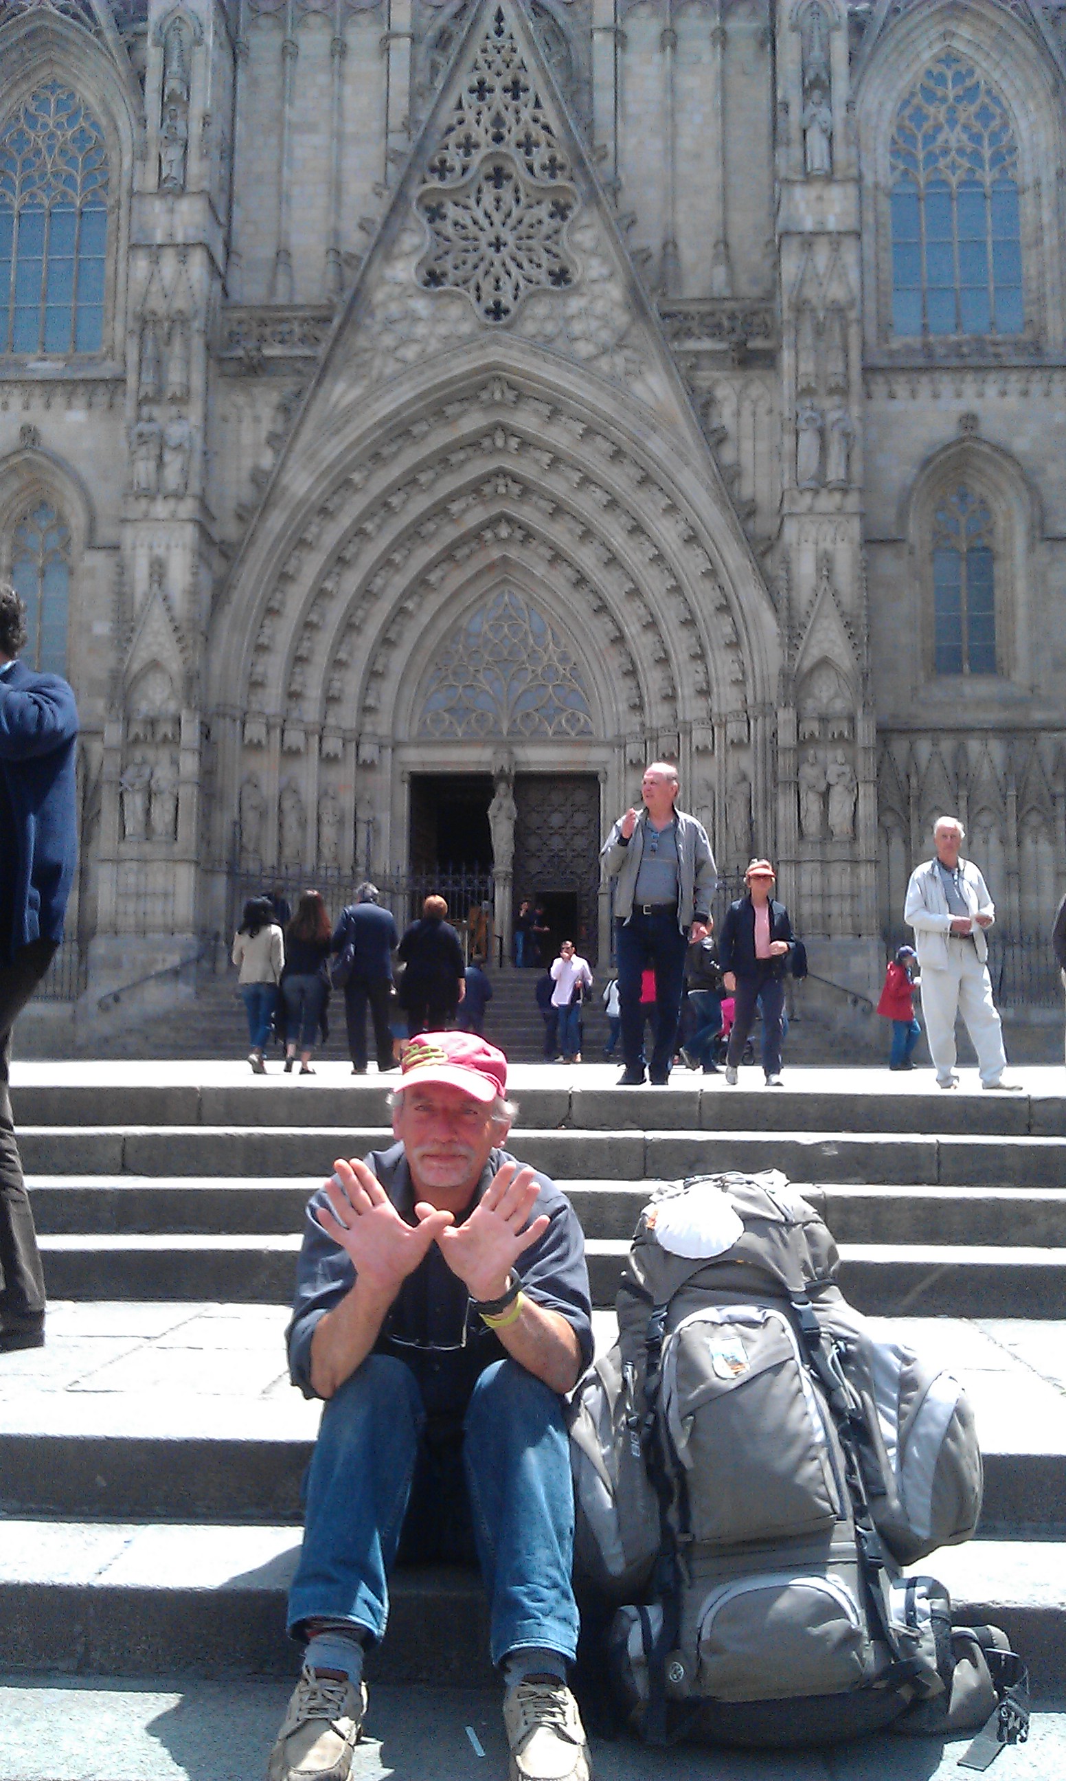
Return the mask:
<path id="1" fill-rule="evenodd" d="M 655 971 L 653 1083 L 669 1081 L 678 1038 L 685 951 L 689 940 L 710 933 L 710 899 L 717 867 L 703 823 L 676 809 L 678 769 L 653 760 L 644 769 L 641 796 L 610 830 L 600 858 L 616 878 L 614 917 L 618 955 L 618 999 L 625 1070 L 619 1085 L 644 1081 L 644 1019 L 641 974 Z"/>

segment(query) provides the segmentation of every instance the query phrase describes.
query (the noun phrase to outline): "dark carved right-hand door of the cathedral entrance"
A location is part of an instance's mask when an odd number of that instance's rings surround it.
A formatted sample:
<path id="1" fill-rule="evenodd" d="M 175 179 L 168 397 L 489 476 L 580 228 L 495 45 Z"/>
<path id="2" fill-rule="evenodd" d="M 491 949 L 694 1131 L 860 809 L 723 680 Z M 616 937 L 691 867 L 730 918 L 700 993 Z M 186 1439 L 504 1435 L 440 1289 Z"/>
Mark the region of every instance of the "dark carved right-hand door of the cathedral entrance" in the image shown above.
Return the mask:
<path id="1" fill-rule="evenodd" d="M 541 958 L 562 940 L 596 964 L 600 890 L 600 778 L 596 773 L 514 777 L 514 910 L 521 898 L 545 908 L 550 933 Z"/>

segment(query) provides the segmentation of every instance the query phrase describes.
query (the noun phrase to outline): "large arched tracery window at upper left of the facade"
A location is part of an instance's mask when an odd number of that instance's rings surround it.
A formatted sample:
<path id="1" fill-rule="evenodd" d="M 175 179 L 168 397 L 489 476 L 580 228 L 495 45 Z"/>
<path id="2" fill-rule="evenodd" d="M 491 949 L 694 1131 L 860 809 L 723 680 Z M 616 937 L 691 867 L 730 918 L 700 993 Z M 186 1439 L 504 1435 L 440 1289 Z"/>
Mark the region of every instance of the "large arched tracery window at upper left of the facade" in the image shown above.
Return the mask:
<path id="1" fill-rule="evenodd" d="M 0 351 L 100 353 L 103 130 L 68 87 L 37 87 L 0 132 Z"/>

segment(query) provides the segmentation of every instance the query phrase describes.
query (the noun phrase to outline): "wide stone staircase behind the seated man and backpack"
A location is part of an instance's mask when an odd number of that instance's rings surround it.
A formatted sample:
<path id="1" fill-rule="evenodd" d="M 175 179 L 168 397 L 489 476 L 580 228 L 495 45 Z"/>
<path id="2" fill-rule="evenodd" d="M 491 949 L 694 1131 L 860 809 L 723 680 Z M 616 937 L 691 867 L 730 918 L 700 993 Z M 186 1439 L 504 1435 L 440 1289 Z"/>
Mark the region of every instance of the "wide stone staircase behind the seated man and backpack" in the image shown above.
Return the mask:
<path id="1" fill-rule="evenodd" d="M 612 1078 L 520 1065 L 513 1083 L 511 1147 L 571 1193 L 587 1232 L 598 1338 L 650 1184 L 769 1165 L 803 1183 L 845 1293 L 945 1357 L 977 1407 L 982 1537 L 925 1569 L 1061 1692 L 1066 1097 L 949 1097 L 874 1072 L 835 1072 L 847 1086 L 833 1088 L 792 1072 L 774 1094 Z M 21 1072 L 53 1311 L 43 1352 L 0 1362 L 7 1669 L 294 1669 L 285 1589 L 317 1405 L 285 1378 L 287 1302 L 306 1195 L 335 1156 L 383 1142 L 384 1094 L 329 1063 L 303 1083 L 226 1065 Z M 376 1662 L 392 1681 L 488 1681 L 477 1580 L 400 1573 Z"/>

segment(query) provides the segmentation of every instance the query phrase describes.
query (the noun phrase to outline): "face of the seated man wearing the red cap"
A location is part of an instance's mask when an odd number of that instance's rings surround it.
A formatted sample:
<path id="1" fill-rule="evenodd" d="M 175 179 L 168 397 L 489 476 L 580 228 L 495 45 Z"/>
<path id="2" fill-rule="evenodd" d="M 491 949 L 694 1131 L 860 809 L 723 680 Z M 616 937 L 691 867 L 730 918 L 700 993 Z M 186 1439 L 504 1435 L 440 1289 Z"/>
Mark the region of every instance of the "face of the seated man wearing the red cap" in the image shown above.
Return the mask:
<path id="1" fill-rule="evenodd" d="M 418 1197 L 441 1211 L 463 1211 L 493 1143 L 505 1138 L 491 1101 L 475 1101 L 443 1083 L 404 1088 L 392 1129 L 404 1145 Z"/>

